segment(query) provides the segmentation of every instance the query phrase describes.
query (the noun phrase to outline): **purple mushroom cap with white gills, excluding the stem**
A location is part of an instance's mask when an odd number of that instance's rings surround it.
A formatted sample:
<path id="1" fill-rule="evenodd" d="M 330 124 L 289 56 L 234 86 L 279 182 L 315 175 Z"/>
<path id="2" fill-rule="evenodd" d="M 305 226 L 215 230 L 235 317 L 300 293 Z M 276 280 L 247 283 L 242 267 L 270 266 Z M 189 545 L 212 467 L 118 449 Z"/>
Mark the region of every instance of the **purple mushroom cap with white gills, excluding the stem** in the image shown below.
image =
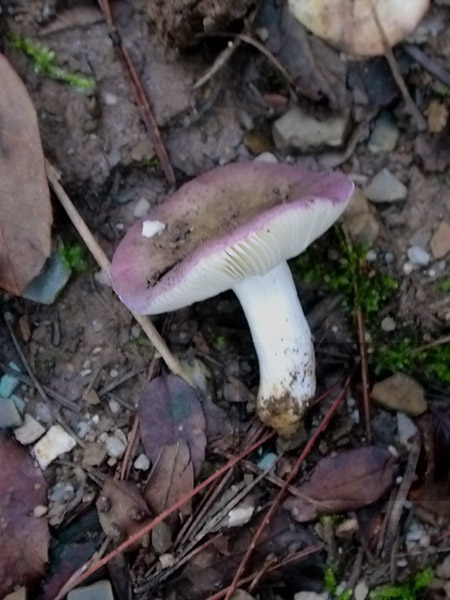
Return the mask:
<path id="1" fill-rule="evenodd" d="M 131 310 L 159 314 L 205 300 L 303 252 L 353 191 L 340 172 L 236 163 L 183 185 L 134 224 L 111 267 Z"/>

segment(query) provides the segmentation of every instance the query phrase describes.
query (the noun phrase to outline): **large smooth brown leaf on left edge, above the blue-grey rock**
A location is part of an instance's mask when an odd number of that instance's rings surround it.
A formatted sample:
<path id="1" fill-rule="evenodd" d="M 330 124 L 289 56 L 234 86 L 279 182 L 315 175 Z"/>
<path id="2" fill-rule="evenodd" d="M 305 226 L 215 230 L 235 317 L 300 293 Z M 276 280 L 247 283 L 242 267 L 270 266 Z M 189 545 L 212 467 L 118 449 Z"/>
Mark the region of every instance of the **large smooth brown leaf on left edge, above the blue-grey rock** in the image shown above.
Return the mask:
<path id="1" fill-rule="evenodd" d="M 0 55 L 0 287 L 20 295 L 50 255 L 52 209 L 36 111 Z"/>

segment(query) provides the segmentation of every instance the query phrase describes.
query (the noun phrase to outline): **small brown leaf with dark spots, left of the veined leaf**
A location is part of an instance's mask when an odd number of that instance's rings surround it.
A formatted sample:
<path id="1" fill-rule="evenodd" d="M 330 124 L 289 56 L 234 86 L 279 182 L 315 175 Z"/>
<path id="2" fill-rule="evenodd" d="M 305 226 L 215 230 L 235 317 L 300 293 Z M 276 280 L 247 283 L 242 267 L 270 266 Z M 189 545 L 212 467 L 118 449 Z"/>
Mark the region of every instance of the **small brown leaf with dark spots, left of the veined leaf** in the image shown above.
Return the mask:
<path id="1" fill-rule="evenodd" d="M 116 542 L 129 538 L 151 518 L 139 489 L 129 481 L 105 479 L 96 506 L 103 531 Z"/>

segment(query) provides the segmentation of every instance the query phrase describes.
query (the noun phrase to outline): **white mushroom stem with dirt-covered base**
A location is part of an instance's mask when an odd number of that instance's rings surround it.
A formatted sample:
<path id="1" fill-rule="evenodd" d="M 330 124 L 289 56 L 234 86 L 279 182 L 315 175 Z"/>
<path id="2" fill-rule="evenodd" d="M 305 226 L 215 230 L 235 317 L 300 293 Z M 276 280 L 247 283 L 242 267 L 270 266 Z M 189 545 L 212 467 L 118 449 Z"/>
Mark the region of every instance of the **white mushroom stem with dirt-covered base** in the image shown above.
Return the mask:
<path id="1" fill-rule="evenodd" d="M 291 271 L 285 261 L 233 287 L 244 309 L 259 360 L 257 409 L 284 436 L 298 430 L 316 388 L 314 348 Z"/>

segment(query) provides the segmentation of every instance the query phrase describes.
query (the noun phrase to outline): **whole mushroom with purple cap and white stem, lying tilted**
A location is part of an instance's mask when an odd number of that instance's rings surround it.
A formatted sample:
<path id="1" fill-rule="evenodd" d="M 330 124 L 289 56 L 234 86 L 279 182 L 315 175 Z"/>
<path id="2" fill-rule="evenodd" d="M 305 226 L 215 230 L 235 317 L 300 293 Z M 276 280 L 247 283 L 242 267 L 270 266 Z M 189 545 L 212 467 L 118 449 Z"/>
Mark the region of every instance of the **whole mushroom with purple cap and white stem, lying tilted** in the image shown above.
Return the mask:
<path id="1" fill-rule="evenodd" d="M 258 355 L 259 417 L 293 437 L 315 392 L 315 361 L 286 261 L 336 221 L 352 191 L 339 172 L 248 162 L 213 169 L 131 227 L 112 260 L 113 288 L 150 315 L 232 289 Z"/>

